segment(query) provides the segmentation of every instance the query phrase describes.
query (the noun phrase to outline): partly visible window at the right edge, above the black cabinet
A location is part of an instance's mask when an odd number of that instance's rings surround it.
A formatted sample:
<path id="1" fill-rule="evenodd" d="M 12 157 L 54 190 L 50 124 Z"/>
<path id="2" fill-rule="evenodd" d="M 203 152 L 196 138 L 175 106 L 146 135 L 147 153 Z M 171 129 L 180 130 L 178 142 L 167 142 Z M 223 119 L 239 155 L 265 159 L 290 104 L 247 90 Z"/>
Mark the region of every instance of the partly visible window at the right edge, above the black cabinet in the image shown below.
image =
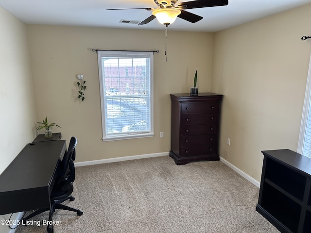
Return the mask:
<path id="1" fill-rule="evenodd" d="M 311 157 L 311 57 L 297 152 Z"/>

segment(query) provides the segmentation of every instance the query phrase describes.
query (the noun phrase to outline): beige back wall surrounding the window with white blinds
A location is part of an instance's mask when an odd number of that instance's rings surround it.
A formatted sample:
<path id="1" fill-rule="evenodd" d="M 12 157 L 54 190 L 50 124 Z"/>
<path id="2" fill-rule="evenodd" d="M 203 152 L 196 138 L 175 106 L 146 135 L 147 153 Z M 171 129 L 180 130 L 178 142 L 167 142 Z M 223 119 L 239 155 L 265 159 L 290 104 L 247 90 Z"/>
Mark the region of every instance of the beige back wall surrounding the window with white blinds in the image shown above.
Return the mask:
<path id="1" fill-rule="evenodd" d="M 210 91 L 212 33 L 165 32 L 65 26 L 27 26 L 38 119 L 57 122 L 63 139 L 78 138 L 76 161 L 168 152 L 171 147 L 170 93 L 190 92 L 196 68 L 201 92 Z M 97 54 L 90 49 L 160 50 L 154 60 L 152 138 L 102 141 Z M 78 100 L 76 74 L 86 81 Z M 164 132 L 164 138 L 160 138 Z"/>

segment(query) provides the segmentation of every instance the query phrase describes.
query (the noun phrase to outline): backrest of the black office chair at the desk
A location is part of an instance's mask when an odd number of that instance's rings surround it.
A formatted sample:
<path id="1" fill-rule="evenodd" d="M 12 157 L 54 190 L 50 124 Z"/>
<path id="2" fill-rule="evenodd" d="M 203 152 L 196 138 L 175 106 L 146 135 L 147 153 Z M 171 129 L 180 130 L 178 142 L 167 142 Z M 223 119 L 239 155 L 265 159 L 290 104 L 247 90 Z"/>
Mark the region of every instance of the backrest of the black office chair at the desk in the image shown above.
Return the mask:
<path id="1" fill-rule="evenodd" d="M 56 183 L 58 186 L 61 186 L 61 189 L 66 189 L 69 183 L 72 183 L 75 179 L 75 169 L 72 156 L 74 155 L 75 159 L 75 147 L 77 142 L 78 140 L 76 137 L 71 137 L 68 150 L 60 163 Z"/>

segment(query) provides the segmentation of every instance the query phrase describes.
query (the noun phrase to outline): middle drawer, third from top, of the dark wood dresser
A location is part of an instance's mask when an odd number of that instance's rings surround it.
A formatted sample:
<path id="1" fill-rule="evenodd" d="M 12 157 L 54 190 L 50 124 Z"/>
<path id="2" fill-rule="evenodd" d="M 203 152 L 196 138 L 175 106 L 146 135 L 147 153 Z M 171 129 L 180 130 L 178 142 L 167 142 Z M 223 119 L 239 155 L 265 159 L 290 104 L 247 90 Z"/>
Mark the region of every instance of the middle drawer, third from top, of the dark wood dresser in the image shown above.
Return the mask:
<path id="1" fill-rule="evenodd" d="M 218 133 L 218 124 L 180 126 L 180 136 L 213 134 L 213 133 Z"/>

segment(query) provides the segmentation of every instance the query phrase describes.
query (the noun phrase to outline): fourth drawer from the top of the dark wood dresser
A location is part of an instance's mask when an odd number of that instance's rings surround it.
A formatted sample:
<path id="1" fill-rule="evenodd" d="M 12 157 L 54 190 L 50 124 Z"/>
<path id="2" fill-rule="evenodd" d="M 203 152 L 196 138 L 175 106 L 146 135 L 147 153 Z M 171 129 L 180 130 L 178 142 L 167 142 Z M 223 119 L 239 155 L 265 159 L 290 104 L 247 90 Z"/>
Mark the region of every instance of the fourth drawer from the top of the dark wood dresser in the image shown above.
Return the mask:
<path id="1" fill-rule="evenodd" d="M 218 143 L 218 134 L 180 137 L 181 147 L 188 147 L 193 145 L 211 145 L 217 143 Z"/>

